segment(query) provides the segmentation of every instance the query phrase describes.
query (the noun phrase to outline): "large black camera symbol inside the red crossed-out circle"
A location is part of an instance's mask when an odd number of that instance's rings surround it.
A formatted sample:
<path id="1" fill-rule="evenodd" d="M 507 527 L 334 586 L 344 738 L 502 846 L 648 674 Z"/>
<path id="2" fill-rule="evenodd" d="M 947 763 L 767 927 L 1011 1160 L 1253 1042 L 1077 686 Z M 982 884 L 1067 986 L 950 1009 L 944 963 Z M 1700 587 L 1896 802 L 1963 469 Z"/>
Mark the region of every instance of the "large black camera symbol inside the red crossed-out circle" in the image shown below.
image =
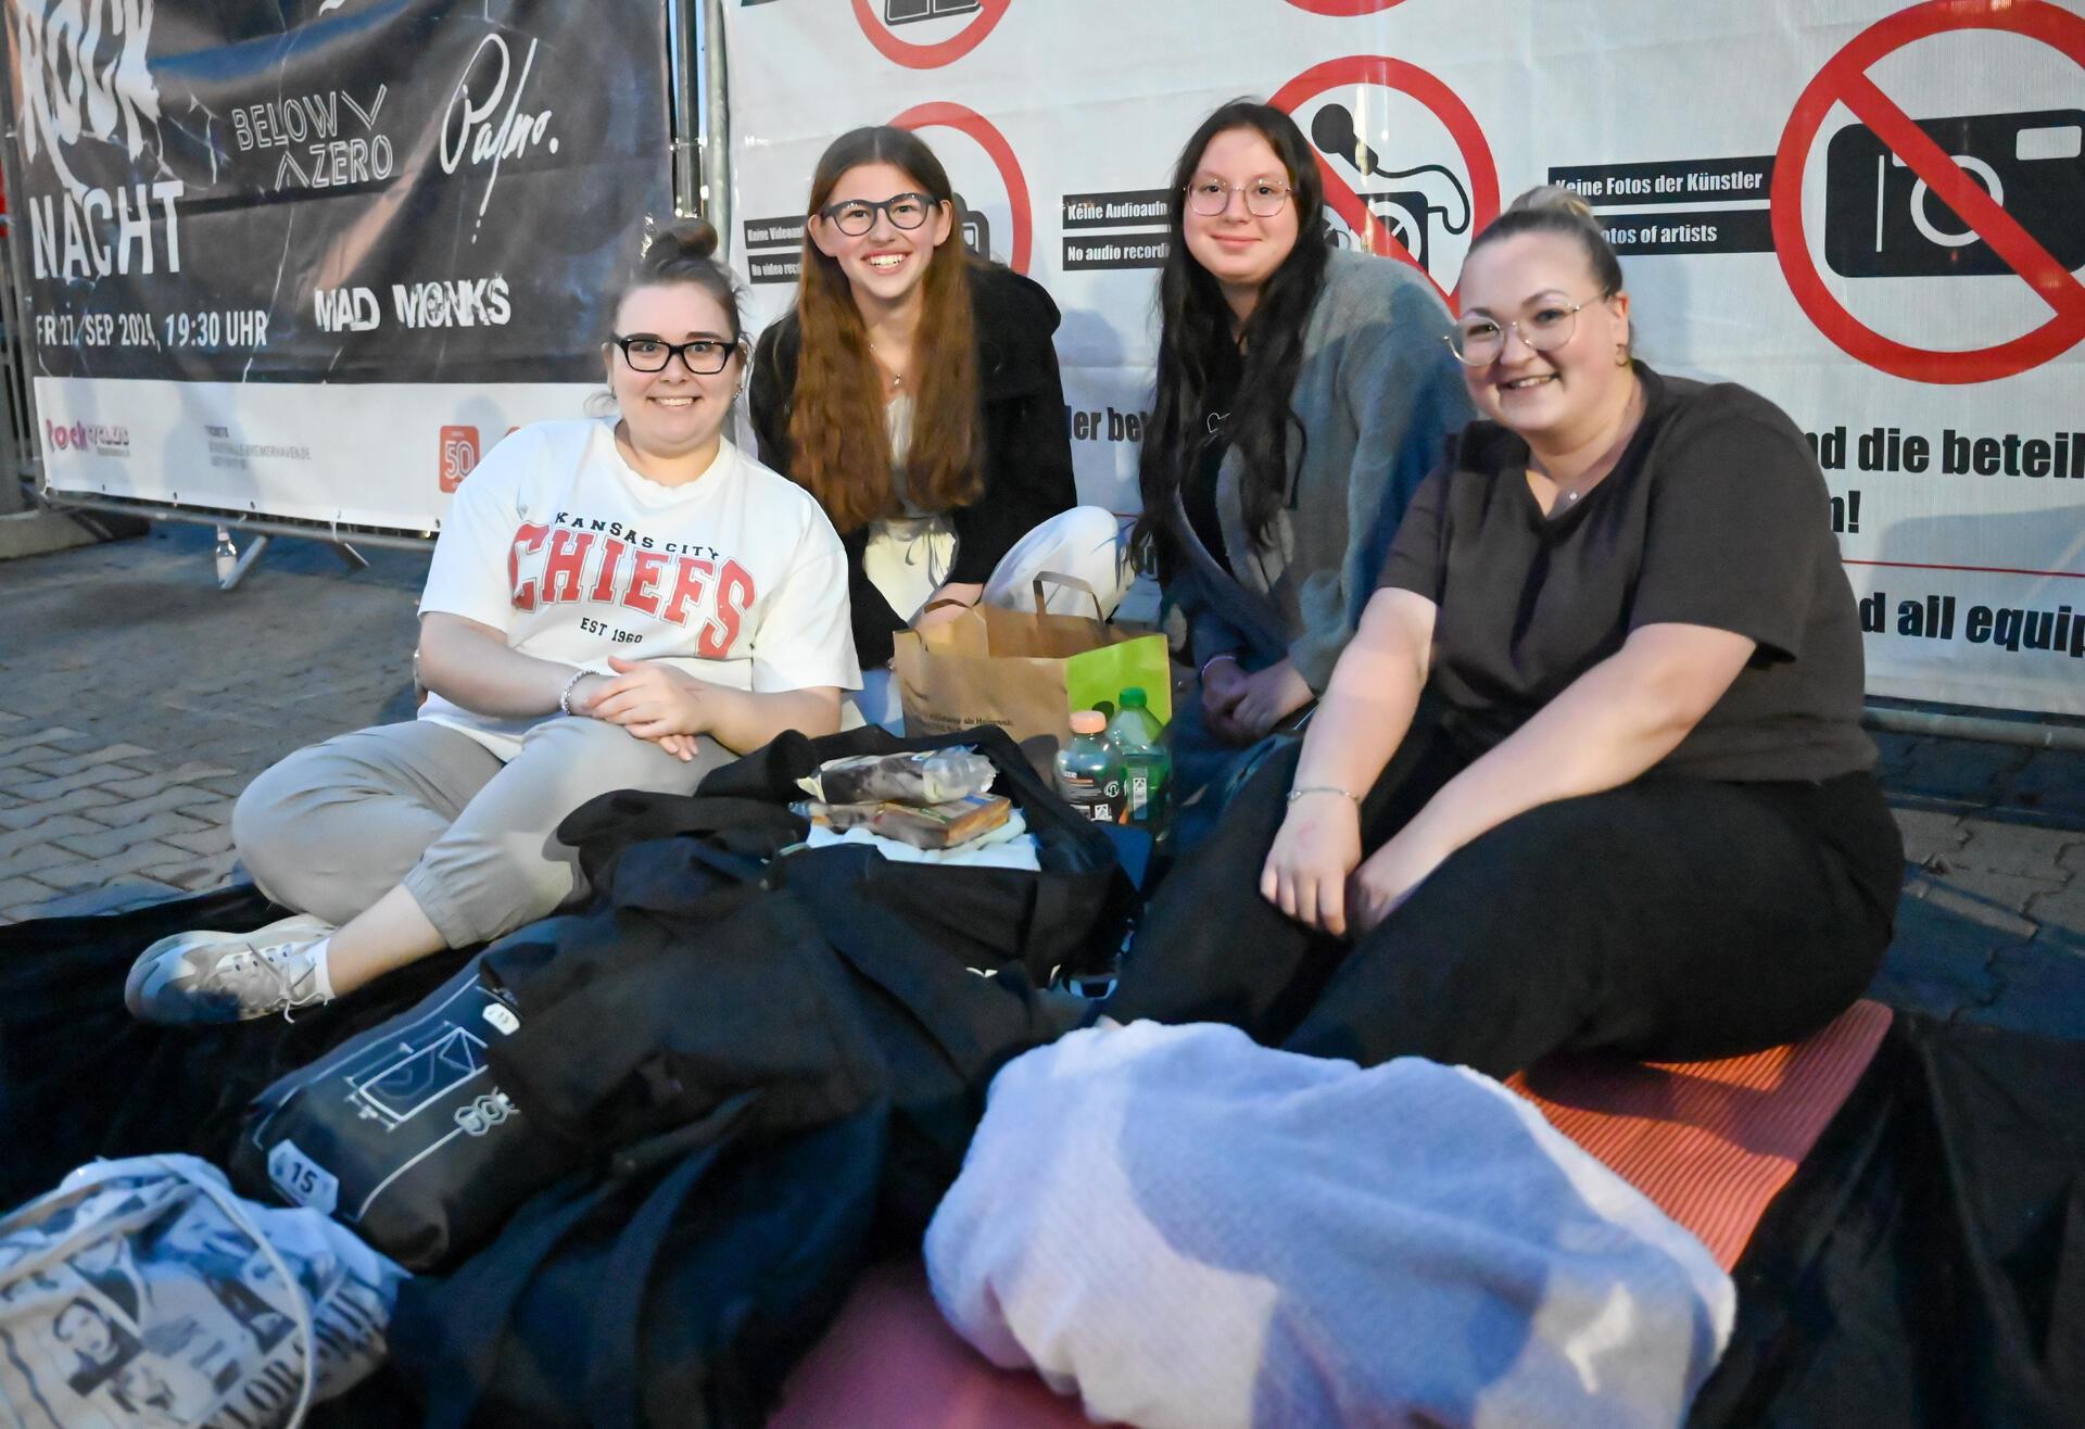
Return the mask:
<path id="1" fill-rule="evenodd" d="M 2085 111 L 1920 119 L 2060 265 L 2085 265 Z M 1989 277 L 2008 265 L 1866 125 L 1824 148 L 1824 263 L 1841 277 Z"/>

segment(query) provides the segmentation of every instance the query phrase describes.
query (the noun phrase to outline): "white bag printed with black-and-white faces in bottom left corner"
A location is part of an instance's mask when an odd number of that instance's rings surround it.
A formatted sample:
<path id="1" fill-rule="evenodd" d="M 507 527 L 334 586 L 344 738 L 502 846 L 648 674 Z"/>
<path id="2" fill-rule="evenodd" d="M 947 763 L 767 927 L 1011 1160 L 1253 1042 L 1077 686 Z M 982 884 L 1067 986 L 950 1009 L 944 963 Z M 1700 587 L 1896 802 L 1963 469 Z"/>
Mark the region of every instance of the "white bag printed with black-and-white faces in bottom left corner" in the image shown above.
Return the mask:
<path id="1" fill-rule="evenodd" d="M 0 1404 L 25 1429 L 300 1425 L 384 1360 L 402 1281 L 194 1156 L 90 1162 L 0 1218 Z"/>

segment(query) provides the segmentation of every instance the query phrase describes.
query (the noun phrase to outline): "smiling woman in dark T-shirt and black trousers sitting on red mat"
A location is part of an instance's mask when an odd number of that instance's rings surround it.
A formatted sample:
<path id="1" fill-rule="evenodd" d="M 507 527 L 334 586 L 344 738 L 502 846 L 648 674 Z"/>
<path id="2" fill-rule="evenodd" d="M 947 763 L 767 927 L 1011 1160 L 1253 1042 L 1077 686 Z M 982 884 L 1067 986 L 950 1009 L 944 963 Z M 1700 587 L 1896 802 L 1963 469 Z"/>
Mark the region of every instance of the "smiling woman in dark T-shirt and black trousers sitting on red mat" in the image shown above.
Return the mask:
<path id="1" fill-rule="evenodd" d="M 1560 188 L 1474 240 L 1451 346 L 1482 419 L 1109 1014 L 1491 1074 L 1816 1031 L 1881 964 L 1904 849 L 1804 434 L 1633 357 L 1620 263 Z"/>

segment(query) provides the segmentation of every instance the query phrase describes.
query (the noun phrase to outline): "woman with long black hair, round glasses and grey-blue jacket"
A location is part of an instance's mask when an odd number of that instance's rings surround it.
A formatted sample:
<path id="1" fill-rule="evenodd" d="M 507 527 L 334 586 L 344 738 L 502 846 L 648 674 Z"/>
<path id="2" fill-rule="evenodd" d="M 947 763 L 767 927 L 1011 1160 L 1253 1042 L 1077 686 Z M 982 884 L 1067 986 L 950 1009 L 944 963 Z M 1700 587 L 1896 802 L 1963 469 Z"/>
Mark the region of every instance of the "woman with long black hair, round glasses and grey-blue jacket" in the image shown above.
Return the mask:
<path id="1" fill-rule="evenodd" d="M 1218 108 L 1170 198 L 1138 536 L 1201 672 L 1174 726 L 1193 799 L 1324 691 L 1470 403 L 1426 277 L 1326 246 L 1324 181 L 1286 113 Z M 1216 801 L 1182 809 L 1182 845 Z"/>

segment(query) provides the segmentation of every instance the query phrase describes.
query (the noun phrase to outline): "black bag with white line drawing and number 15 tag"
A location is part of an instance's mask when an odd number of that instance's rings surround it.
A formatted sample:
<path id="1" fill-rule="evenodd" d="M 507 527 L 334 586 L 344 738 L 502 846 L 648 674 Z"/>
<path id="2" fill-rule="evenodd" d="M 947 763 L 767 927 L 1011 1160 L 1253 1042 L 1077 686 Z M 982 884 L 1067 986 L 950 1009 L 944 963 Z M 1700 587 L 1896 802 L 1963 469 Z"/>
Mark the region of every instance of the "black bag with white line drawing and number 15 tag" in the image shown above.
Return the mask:
<path id="1" fill-rule="evenodd" d="M 521 1018 L 482 970 L 484 953 L 263 1091 L 231 1152 L 238 1187 L 332 1216 L 411 1270 L 492 1239 L 575 1152 L 494 1085 L 488 1051 Z"/>

